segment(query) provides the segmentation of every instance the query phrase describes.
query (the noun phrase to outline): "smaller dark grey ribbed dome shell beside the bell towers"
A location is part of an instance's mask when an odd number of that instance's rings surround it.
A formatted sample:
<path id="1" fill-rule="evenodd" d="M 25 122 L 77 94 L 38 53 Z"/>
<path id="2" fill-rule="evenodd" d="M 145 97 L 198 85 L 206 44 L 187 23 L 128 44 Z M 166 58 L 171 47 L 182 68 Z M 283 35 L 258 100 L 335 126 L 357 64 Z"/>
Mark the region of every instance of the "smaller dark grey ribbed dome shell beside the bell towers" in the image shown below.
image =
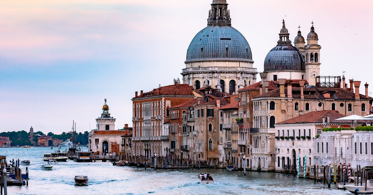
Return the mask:
<path id="1" fill-rule="evenodd" d="M 304 71 L 304 57 L 291 44 L 278 44 L 264 60 L 264 72 L 268 71 Z"/>

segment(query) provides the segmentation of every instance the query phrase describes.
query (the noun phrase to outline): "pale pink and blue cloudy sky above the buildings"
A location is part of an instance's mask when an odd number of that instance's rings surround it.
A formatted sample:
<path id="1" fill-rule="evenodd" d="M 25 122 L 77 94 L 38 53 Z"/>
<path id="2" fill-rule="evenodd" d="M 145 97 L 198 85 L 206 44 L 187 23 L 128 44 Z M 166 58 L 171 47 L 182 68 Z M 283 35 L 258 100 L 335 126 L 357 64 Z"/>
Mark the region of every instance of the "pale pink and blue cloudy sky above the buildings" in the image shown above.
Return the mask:
<path id="1" fill-rule="evenodd" d="M 116 129 L 132 126 L 135 91 L 182 78 L 186 50 L 207 26 L 211 0 L 0 0 L 0 132 L 95 129 L 104 99 Z M 366 82 L 373 1 L 227 0 L 232 27 L 263 72 L 282 19 L 291 40 L 314 22 L 320 75 Z M 257 75 L 257 81 L 260 76 Z"/>

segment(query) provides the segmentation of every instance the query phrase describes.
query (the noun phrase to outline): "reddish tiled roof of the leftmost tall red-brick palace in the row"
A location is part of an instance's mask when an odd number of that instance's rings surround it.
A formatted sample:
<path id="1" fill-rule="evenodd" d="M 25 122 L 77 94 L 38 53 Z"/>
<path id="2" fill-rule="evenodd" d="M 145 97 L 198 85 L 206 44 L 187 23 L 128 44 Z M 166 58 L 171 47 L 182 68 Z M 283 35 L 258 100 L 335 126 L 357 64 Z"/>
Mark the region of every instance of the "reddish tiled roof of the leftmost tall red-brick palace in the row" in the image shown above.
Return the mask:
<path id="1" fill-rule="evenodd" d="M 162 89 L 162 94 L 159 93 L 159 89 Z M 154 93 L 154 90 L 150 91 L 150 92 L 146 92 L 144 93 L 142 96 L 139 95 L 137 97 L 134 97 L 133 99 L 136 99 L 136 98 L 141 98 L 141 97 L 150 97 L 150 96 L 159 96 L 159 95 L 176 95 L 176 91 L 178 92 L 178 95 L 180 96 L 190 96 L 192 95 L 192 90 L 194 90 L 194 88 L 192 86 L 189 86 L 188 84 L 174 84 L 174 85 L 169 85 L 169 86 L 164 86 L 164 87 L 158 87 L 156 90 L 155 90 L 155 93 Z"/>

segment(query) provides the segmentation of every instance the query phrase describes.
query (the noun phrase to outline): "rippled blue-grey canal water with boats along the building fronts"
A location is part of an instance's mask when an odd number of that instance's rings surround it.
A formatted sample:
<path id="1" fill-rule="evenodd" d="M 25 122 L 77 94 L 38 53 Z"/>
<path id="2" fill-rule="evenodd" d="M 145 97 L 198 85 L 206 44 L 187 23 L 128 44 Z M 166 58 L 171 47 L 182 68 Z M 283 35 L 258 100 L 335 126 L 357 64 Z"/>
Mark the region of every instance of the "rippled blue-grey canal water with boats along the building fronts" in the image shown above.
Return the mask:
<path id="1" fill-rule="evenodd" d="M 153 170 L 147 168 L 116 167 L 110 162 L 76 163 L 68 160 L 44 171 L 43 154 L 56 148 L 0 148 L 7 161 L 30 160 L 29 185 L 8 186 L 8 194 L 351 194 L 327 188 L 313 180 L 297 179 L 280 173 L 251 172 L 221 169 Z M 84 148 L 87 149 L 87 148 Z M 22 166 L 25 173 L 26 166 Z M 210 173 L 213 184 L 201 185 L 198 173 Z M 88 186 L 75 186 L 75 175 L 87 175 Z"/>

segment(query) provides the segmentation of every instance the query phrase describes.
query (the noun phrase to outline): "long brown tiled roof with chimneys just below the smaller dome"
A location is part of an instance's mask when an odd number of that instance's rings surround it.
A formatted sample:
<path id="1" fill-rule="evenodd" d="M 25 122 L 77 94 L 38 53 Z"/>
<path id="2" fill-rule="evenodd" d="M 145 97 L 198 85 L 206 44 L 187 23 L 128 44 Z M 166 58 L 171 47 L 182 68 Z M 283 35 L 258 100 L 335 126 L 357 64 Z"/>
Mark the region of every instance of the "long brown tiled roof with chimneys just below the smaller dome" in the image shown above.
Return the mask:
<path id="1" fill-rule="evenodd" d="M 300 87 L 292 87 L 292 96 L 294 99 L 300 99 Z M 323 88 L 323 87 L 304 87 L 304 99 L 335 99 L 335 100 L 355 100 L 355 93 L 341 88 Z M 325 98 L 322 93 L 330 94 L 330 98 Z M 288 89 L 285 88 L 285 97 L 288 96 Z M 280 97 L 280 89 L 275 89 L 256 97 Z M 256 98 L 255 97 L 255 98 Z M 370 99 L 360 94 L 360 99 Z"/>

